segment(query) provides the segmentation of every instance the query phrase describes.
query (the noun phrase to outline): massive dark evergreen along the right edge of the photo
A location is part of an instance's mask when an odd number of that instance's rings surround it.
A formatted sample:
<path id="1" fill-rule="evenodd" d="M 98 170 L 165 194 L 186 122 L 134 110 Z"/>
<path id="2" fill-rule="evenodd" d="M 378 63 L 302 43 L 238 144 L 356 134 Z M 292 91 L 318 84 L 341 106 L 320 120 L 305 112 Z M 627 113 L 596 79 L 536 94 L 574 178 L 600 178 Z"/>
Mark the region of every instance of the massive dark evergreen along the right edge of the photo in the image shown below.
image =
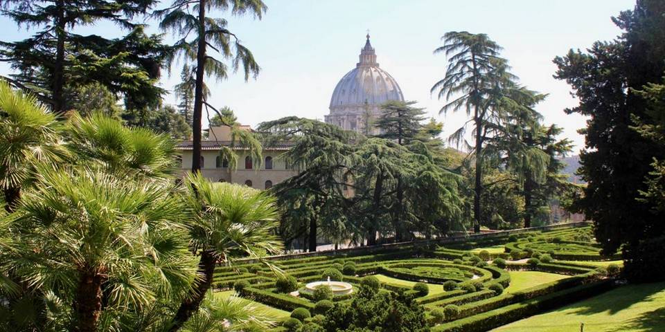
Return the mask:
<path id="1" fill-rule="evenodd" d="M 665 3 L 639 0 L 634 10 L 613 19 L 625 33 L 613 42 L 596 42 L 587 52 L 570 50 L 556 57 L 556 77 L 574 89 L 580 104 L 567 113 L 588 116 L 579 172 L 587 182 L 576 207 L 594 221 L 605 252 L 623 250 L 626 276 L 665 279 L 662 239 L 665 212 L 642 200 L 654 158 L 665 158 L 662 145 L 634 129 L 635 119 L 653 124 L 647 101 L 635 90 L 659 82 L 665 71 Z M 646 249 L 651 248 L 651 249 Z M 655 250 L 654 248 L 659 248 Z"/>

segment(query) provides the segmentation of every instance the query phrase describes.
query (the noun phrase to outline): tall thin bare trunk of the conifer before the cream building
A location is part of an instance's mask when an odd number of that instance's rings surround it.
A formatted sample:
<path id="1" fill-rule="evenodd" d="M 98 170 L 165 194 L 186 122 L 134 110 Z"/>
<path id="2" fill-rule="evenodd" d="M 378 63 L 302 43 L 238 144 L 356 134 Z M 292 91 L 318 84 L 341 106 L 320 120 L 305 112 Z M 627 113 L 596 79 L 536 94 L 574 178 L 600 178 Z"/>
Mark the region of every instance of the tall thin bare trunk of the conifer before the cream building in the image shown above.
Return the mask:
<path id="1" fill-rule="evenodd" d="M 192 173 L 201 171 L 201 118 L 203 114 L 203 79 L 206 65 L 206 0 L 199 1 L 199 43 L 196 54 L 196 85 L 192 116 Z"/>

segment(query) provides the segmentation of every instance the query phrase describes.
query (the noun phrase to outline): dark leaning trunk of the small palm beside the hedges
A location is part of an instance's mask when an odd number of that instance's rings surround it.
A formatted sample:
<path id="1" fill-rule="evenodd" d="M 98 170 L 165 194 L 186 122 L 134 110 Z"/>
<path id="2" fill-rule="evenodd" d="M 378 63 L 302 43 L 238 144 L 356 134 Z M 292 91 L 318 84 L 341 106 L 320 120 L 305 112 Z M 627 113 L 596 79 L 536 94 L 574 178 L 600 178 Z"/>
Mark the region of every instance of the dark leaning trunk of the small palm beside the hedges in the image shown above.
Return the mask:
<path id="1" fill-rule="evenodd" d="M 192 293 L 180 304 L 177 313 L 175 313 L 175 317 L 173 317 L 172 324 L 168 330 L 169 332 L 175 332 L 181 329 L 185 322 L 187 322 L 187 320 L 199 310 L 201 302 L 206 297 L 206 293 L 213 284 L 216 261 L 217 259 L 215 255 L 213 255 L 213 252 L 206 250 L 201 253 L 198 273 L 203 275 L 203 280 L 195 285 Z"/>

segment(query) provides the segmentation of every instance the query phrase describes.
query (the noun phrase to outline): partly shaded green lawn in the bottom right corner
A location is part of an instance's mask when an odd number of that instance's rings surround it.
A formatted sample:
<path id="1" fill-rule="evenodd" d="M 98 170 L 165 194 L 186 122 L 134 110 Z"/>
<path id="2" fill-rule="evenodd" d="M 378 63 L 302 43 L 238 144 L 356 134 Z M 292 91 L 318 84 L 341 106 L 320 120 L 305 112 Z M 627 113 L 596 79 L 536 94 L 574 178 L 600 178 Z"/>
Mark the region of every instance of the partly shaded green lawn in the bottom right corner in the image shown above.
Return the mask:
<path id="1" fill-rule="evenodd" d="M 622 286 L 608 293 L 535 315 L 492 331 L 665 331 L 665 282 Z"/>

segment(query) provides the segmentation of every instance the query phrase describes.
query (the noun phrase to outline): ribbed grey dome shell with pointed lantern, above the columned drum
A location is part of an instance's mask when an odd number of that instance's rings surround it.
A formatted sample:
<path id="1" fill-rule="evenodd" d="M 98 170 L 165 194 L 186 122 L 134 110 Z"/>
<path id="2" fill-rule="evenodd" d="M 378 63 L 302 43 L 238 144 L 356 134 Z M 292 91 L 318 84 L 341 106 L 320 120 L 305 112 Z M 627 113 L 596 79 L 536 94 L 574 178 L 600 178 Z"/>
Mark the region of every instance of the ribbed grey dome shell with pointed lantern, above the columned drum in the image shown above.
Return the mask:
<path id="1" fill-rule="evenodd" d="M 369 35 L 360 51 L 360 62 L 339 80 L 330 98 L 330 113 L 378 106 L 388 100 L 404 100 L 397 81 L 376 62 Z M 356 112 L 353 112 L 356 113 Z"/>

